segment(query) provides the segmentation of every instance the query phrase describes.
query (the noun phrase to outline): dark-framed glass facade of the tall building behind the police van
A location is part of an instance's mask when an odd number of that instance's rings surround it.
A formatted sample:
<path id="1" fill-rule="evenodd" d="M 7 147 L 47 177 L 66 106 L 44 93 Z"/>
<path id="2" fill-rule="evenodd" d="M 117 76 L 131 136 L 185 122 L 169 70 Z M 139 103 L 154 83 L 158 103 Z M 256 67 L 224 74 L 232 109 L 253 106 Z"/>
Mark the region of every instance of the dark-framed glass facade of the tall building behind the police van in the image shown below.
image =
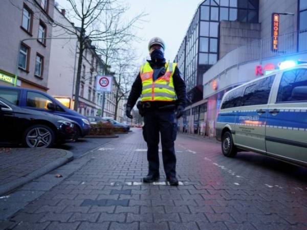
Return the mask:
<path id="1" fill-rule="evenodd" d="M 203 74 L 219 58 L 221 20 L 258 22 L 258 0 L 206 0 L 196 10 L 175 62 L 184 74 L 188 98 L 203 98 Z"/>

